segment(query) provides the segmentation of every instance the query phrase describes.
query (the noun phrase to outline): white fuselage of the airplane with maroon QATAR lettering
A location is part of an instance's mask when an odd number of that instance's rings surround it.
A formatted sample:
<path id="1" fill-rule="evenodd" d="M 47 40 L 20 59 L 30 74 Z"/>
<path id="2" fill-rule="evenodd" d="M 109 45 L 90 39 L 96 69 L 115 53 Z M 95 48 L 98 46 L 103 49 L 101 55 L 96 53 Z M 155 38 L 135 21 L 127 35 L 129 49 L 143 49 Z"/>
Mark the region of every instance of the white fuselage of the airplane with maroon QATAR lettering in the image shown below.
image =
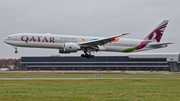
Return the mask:
<path id="1" fill-rule="evenodd" d="M 92 36 L 73 36 L 73 35 L 55 35 L 55 34 L 32 34 L 32 33 L 19 33 L 9 35 L 8 38 L 4 39 L 4 42 L 15 47 L 32 47 L 32 48 L 53 48 L 53 49 L 64 49 L 65 43 L 76 43 L 93 41 L 101 39 L 100 37 Z M 132 52 L 127 51 L 136 47 L 134 51 L 143 51 L 155 48 L 163 47 L 151 47 L 148 44 L 154 42 L 148 42 L 147 45 L 141 47 L 140 43 L 145 40 L 138 39 L 126 39 L 116 38 L 111 43 L 107 43 L 102 46 L 98 46 L 98 51 L 111 51 L 111 52 Z M 141 47 L 137 49 L 137 47 Z M 81 47 L 78 49 L 81 50 Z"/>

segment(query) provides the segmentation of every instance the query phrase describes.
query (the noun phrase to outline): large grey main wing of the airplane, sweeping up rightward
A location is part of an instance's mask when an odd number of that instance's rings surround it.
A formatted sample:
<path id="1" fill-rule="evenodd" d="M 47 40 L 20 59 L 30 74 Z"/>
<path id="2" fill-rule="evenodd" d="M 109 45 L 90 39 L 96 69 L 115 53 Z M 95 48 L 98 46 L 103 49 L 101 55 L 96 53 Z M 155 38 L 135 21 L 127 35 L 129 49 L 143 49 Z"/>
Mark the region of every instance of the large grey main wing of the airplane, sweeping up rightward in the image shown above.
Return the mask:
<path id="1" fill-rule="evenodd" d="M 94 41 L 81 42 L 81 43 L 79 43 L 79 45 L 81 47 L 91 47 L 91 46 L 97 46 L 97 45 L 104 45 L 106 43 L 109 43 L 109 42 L 115 40 L 115 38 L 117 38 L 117 37 L 121 37 L 121 36 L 124 36 L 124 35 L 127 35 L 127 34 L 130 34 L 130 33 L 123 33 L 121 35 L 116 35 L 116 36 L 112 36 L 112 37 L 102 38 L 102 39 L 94 40 Z"/>

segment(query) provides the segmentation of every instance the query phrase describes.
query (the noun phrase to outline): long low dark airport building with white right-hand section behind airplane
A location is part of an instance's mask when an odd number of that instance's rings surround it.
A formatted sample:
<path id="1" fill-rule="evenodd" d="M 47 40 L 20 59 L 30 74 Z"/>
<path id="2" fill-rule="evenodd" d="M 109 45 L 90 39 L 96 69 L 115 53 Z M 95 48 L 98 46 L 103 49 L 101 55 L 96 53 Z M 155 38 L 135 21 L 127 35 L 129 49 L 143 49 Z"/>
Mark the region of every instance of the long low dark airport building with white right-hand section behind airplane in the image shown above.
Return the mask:
<path id="1" fill-rule="evenodd" d="M 180 71 L 179 53 L 143 53 L 128 56 L 21 57 L 21 70 L 61 71 Z"/>

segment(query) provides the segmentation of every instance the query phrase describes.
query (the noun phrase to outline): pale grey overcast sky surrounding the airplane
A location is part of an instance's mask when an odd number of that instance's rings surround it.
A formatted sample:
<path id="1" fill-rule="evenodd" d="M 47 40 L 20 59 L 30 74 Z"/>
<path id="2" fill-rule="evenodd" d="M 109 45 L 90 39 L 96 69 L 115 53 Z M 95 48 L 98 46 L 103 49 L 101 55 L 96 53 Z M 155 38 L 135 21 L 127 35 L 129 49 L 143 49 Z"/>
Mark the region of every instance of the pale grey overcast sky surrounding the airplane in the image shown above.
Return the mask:
<path id="1" fill-rule="evenodd" d="M 0 0 L 0 58 L 21 56 L 79 56 L 83 52 L 59 54 L 56 49 L 14 48 L 3 38 L 15 33 L 52 33 L 113 36 L 143 39 L 161 21 L 169 20 L 162 42 L 164 49 L 138 53 L 180 52 L 180 0 Z M 95 55 L 126 55 L 98 52 Z"/>

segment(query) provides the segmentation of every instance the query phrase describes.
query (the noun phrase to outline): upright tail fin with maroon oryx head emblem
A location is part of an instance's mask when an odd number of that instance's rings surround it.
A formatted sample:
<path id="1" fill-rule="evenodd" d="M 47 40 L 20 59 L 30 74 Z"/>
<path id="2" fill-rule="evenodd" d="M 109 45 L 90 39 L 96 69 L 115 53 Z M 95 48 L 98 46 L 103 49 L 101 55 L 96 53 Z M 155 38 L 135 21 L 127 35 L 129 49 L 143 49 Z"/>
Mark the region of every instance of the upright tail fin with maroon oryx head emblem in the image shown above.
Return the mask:
<path id="1" fill-rule="evenodd" d="M 161 37 L 166 29 L 169 20 L 164 20 L 161 22 L 150 34 L 148 34 L 144 40 L 150 40 L 155 42 L 160 42 Z"/>

